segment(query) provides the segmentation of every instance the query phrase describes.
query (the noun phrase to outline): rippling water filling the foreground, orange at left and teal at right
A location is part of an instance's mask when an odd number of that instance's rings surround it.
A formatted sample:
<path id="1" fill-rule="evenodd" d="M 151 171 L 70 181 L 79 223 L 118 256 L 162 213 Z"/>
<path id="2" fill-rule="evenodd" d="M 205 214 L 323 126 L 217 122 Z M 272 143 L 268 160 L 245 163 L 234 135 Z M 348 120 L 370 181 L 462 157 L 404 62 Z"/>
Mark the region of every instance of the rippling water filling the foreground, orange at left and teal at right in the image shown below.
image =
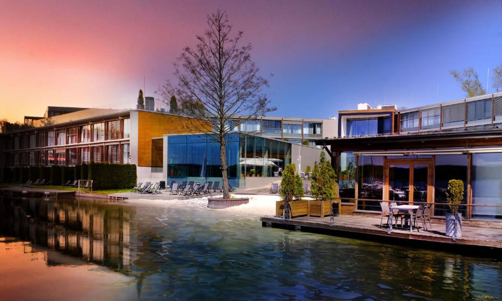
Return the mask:
<path id="1" fill-rule="evenodd" d="M 502 265 L 209 210 L 0 197 L 6 298 L 487 299 Z M 0 297 L 2 298 L 2 297 Z"/>

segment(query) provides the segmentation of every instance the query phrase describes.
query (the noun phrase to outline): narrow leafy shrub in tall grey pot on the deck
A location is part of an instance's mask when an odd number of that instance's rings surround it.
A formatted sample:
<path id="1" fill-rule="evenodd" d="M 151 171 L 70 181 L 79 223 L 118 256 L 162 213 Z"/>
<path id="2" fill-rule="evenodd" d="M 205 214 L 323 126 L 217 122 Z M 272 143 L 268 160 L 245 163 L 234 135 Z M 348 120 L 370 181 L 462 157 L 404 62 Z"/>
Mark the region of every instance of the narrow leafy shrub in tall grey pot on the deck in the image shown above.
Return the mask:
<path id="1" fill-rule="evenodd" d="M 464 182 L 461 180 L 448 181 L 448 207 L 446 213 L 446 236 L 457 238 L 462 236 L 462 215 L 459 213 L 459 204 L 464 199 Z"/>

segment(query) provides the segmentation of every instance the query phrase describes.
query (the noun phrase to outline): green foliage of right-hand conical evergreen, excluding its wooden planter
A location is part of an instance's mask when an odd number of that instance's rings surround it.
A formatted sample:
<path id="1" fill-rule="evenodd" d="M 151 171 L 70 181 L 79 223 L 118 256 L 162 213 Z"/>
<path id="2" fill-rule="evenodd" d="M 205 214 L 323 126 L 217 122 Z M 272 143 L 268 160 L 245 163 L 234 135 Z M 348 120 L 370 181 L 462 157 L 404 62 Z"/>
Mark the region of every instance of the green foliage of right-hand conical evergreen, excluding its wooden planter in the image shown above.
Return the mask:
<path id="1" fill-rule="evenodd" d="M 317 200 L 336 197 L 336 174 L 329 161 L 326 160 L 324 152 L 321 153 L 319 164 L 317 162 L 314 164 L 311 181 L 312 196 Z"/>

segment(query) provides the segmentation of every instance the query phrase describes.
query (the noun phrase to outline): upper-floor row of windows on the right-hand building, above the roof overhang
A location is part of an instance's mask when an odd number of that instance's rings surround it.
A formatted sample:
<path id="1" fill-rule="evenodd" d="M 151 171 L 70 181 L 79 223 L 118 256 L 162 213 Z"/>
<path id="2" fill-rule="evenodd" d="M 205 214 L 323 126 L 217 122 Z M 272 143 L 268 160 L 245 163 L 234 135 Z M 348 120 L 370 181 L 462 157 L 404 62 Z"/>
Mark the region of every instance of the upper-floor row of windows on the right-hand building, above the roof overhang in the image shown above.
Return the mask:
<path id="1" fill-rule="evenodd" d="M 492 121 L 502 120 L 502 96 L 493 99 L 481 99 L 467 103 L 457 103 L 445 105 L 442 108 L 431 108 L 420 110 L 419 112 L 409 112 L 401 114 L 401 131 L 414 131 L 420 128 L 439 128 L 441 116 L 443 127 L 464 126 L 484 124 Z M 467 111 L 465 111 L 467 109 Z"/>

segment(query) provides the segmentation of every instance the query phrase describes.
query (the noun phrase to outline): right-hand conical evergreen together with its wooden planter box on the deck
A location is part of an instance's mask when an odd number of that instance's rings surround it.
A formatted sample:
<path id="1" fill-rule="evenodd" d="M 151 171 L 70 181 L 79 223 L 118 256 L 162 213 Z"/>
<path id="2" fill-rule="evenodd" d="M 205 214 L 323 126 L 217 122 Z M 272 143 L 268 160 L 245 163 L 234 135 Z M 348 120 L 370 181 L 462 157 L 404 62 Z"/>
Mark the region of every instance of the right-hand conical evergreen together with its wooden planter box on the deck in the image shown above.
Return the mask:
<path id="1" fill-rule="evenodd" d="M 315 200 L 309 201 L 308 216 L 325 217 L 331 213 L 331 201 L 336 197 L 337 190 L 335 171 L 324 152 L 321 153 L 319 164 L 314 164 L 311 181 L 310 189 Z"/>

